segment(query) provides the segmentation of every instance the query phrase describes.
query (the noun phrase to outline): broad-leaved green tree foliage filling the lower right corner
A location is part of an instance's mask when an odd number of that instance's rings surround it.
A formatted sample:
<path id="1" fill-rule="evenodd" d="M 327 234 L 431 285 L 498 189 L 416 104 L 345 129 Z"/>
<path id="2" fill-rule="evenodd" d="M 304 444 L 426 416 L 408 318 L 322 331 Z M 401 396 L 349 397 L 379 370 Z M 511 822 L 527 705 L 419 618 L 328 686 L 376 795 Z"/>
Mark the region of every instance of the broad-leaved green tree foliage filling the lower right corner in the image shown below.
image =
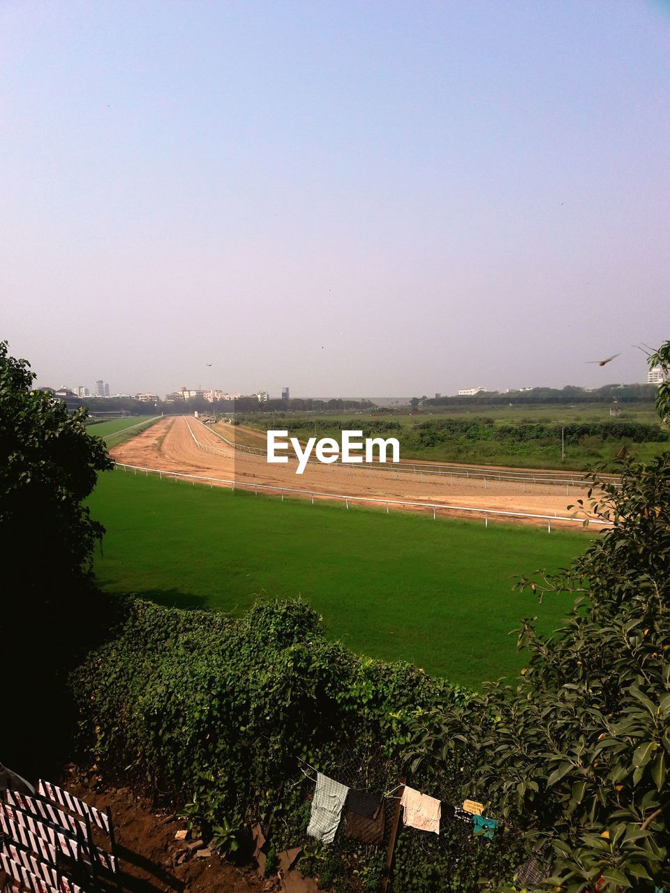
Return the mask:
<path id="1" fill-rule="evenodd" d="M 663 417 L 670 342 L 649 357 L 659 362 Z M 573 593 L 565 626 L 544 638 L 523 621 L 519 683 L 424 715 L 410 750 L 414 769 L 459 762 L 464 796 L 546 853 L 545 887 L 566 893 L 670 882 L 670 452 L 618 464 L 620 484 L 593 472 L 582 503 L 611 526 L 570 568 L 520 583 L 540 601 Z"/>

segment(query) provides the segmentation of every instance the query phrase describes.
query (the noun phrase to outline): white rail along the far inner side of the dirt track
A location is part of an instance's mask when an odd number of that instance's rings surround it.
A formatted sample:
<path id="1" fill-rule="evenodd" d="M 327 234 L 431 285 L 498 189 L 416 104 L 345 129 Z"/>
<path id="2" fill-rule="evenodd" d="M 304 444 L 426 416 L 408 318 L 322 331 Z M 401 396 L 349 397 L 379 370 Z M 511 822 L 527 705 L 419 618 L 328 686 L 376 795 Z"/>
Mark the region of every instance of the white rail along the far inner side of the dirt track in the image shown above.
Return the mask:
<path id="1" fill-rule="evenodd" d="M 190 424 L 188 423 L 190 421 L 191 416 L 185 415 L 185 416 L 183 416 L 183 418 L 186 419 L 187 424 L 188 424 L 188 430 L 191 431 L 191 435 L 193 435 L 193 439 L 196 441 L 196 443 L 203 448 L 207 448 L 207 449 L 215 451 L 216 447 L 210 447 L 208 444 L 200 444 L 200 442 L 197 440 L 196 436 L 193 434 L 193 430 L 191 430 Z M 261 447 L 246 447 L 242 444 L 236 444 L 232 440 L 229 440 L 228 438 L 223 437 L 223 435 L 219 431 L 215 431 L 211 427 L 211 425 L 205 425 L 205 422 L 200 421 L 199 419 L 195 419 L 194 421 L 197 421 L 198 424 L 201 424 L 203 426 L 203 428 L 210 430 L 212 432 L 212 434 L 216 435 L 217 438 L 221 438 L 223 443 L 225 443 L 229 447 L 232 447 L 232 449 L 236 449 L 236 450 L 239 450 L 240 452 L 248 453 L 251 455 L 258 455 L 258 456 L 266 456 L 267 455 L 266 451 L 264 449 L 261 449 Z M 228 454 L 222 453 L 222 455 L 228 455 Z M 294 459 L 293 456 L 289 455 L 289 461 L 297 462 L 297 458 Z M 314 464 L 314 463 L 316 463 L 316 460 L 310 459 L 310 460 L 308 460 L 308 463 Z M 321 463 L 319 463 L 319 464 L 321 464 Z M 590 487 L 590 482 L 588 480 L 582 480 L 581 478 L 577 477 L 576 475 L 573 477 L 567 478 L 567 477 L 565 477 L 565 472 L 556 472 L 556 474 L 564 475 L 564 477 L 558 478 L 558 477 L 551 477 L 550 476 L 551 472 L 544 472 L 543 474 L 540 475 L 540 474 L 530 474 L 530 473 L 523 474 L 522 472 L 507 472 L 507 471 L 504 471 L 503 469 L 500 469 L 500 470 L 492 470 L 491 469 L 490 471 L 484 471 L 482 468 L 476 468 L 476 467 L 471 467 L 471 466 L 467 466 L 467 465 L 435 466 L 435 465 L 428 465 L 428 464 L 423 464 L 423 463 L 398 464 L 398 463 L 392 463 L 392 462 L 387 462 L 387 463 L 339 462 L 337 464 L 351 466 L 355 470 L 356 469 L 357 470 L 368 470 L 368 471 L 372 471 L 372 472 L 398 472 L 398 473 L 402 473 L 402 474 L 421 474 L 421 475 L 427 474 L 427 475 L 432 475 L 434 477 L 442 477 L 442 478 L 451 477 L 451 478 L 468 478 L 468 479 L 473 479 L 473 480 L 483 480 L 484 486 L 486 486 L 486 483 L 489 480 L 491 480 L 491 481 L 495 480 L 498 482 L 500 482 L 500 481 L 504 482 L 507 480 L 510 483 L 523 483 L 524 485 L 525 484 L 553 484 L 553 485 L 563 485 L 565 487 L 581 487 L 581 488 Z M 607 480 L 608 482 L 611 482 L 614 484 L 618 483 L 616 478 L 611 475 L 604 475 L 604 480 Z"/>

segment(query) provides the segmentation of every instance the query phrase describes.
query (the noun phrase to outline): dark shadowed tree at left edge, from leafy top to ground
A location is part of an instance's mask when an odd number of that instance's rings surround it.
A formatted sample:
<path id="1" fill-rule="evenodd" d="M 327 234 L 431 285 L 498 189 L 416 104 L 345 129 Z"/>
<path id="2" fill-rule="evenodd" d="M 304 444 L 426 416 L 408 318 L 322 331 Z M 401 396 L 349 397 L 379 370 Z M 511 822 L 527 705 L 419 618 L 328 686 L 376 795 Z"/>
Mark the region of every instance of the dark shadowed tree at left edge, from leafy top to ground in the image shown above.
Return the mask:
<path id="1" fill-rule="evenodd" d="M 34 378 L 0 342 L 0 641 L 5 665 L 26 667 L 13 680 L 12 722 L 21 733 L 3 736 L 3 759 L 16 758 L 26 775 L 31 759 L 58 759 L 69 718 L 58 671 L 78 659 L 82 643 L 90 647 L 88 571 L 104 528 L 85 499 L 98 472 L 113 467 L 105 444 L 88 437 L 86 410 L 68 413 L 50 393 L 31 390 Z"/>

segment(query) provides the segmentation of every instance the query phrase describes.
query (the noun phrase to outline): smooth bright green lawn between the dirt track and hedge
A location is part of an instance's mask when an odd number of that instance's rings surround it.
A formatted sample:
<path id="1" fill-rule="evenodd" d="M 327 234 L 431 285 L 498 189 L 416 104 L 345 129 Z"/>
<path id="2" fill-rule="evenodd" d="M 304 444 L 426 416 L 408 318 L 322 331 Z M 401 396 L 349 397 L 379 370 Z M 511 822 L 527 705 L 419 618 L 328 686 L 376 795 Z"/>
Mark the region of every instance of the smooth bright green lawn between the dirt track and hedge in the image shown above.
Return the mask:
<path id="1" fill-rule="evenodd" d="M 567 597 L 538 605 L 513 592 L 540 567 L 565 566 L 587 545 L 581 530 L 458 522 L 410 513 L 255 497 L 120 470 L 89 500 L 105 524 L 100 585 L 163 604 L 243 612 L 263 597 L 298 594 L 329 636 L 353 650 L 406 660 L 478 687 L 518 671 L 509 630 L 538 614 L 556 629 Z"/>

